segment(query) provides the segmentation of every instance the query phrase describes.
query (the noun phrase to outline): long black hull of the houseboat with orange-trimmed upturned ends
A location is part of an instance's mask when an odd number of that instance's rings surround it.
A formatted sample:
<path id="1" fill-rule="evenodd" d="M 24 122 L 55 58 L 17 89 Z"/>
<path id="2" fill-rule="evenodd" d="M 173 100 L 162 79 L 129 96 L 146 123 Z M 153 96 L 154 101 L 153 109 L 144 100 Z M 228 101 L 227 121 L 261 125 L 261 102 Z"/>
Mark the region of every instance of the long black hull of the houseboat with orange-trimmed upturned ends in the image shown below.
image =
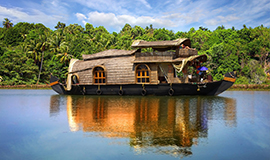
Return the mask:
<path id="1" fill-rule="evenodd" d="M 208 83 L 160 83 L 160 84 L 125 84 L 125 85 L 72 85 L 71 90 L 58 79 L 51 76 L 51 87 L 58 94 L 66 95 L 218 95 L 235 82 L 233 72 L 225 74 L 224 80 Z"/>

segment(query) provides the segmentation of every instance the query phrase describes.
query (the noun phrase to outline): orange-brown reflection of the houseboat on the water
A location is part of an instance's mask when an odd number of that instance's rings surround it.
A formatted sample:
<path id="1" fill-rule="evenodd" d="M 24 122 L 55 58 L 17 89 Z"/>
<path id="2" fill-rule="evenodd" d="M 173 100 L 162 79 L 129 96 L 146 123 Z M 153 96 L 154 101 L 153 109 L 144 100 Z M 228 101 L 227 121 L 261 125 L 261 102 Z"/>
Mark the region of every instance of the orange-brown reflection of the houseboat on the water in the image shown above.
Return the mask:
<path id="1" fill-rule="evenodd" d="M 61 103 L 54 101 L 59 97 L 52 96 L 51 110 L 57 111 Z M 71 131 L 129 138 L 129 145 L 138 152 L 187 156 L 198 139 L 207 138 L 208 121 L 216 118 L 214 114 L 226 123 L 236 122 L 235 100 L 223 97 L 67 96 L 66 103 Z"/>

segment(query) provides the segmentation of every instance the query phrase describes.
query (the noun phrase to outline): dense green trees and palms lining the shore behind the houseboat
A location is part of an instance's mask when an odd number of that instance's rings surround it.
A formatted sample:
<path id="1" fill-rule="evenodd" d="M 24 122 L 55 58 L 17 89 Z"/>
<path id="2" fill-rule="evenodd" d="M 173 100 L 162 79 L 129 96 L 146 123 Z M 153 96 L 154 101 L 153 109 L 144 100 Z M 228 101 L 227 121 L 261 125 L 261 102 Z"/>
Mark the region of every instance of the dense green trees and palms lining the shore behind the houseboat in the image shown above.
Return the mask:
<path id="1" fill-rule="evenodd" d="M 20 22 L 13 26 L 8 19 L 0 28 L 0 85 L 49 83 L 52 73 L 65 81 L 71 58 L 93 54 L 107 49 L 131 50 L 136 39 L 146 41 L 191 39 L 192 48 L 199 54 L 207 54 L 204 64 L 214 80 L 222 79 L 226 72 L 237 71 L 236 83 L 269 83 L 270 29 L 259 26 L 240 30 L 214 31 L 200 27 L 188 32 L 176 32 L 165 28 L 142 28 L 126 24 L 119 32 L 109 33 L 104 27 L 85 27 L 77 24 L 66 26 L 58 22 L 56 30 L 42 24 Z M 40 75 L 39 75 L 40 74 Z M 40 77 L 40 80 L 39 80 Z"/>

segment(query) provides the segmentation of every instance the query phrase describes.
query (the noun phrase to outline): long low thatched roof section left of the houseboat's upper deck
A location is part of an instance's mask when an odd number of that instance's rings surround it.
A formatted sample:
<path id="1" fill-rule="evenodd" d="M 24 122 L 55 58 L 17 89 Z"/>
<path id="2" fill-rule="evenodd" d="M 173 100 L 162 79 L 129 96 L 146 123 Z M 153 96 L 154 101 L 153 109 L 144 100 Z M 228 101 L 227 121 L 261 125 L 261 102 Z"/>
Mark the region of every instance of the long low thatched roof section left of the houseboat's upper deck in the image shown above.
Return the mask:
<path id="1" fill-rule="evenodd" d="M 99 59 L 99 58 L 130 56 L 134 54 L 135 52 L 136 50 L 126 51 L 126 50 L 110 49 L 110 50 L 98 52 L 95 54 L 82 55 L 82 57 L 83 57 L 83 60 L 86 61 L 86 60 Z"/>

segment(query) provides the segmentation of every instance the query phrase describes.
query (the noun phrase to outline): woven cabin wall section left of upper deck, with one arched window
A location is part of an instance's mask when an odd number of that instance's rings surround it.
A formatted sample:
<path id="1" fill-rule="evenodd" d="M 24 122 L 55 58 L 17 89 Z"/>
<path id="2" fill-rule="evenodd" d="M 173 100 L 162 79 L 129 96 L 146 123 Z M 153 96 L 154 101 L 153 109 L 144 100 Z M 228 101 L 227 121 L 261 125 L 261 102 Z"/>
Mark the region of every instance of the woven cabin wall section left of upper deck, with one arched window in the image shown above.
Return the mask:
<path id="1" fill-rule="evenodd" d="M 132 63 L 133 60 L 134 56 L 126 56 L 102 60 L 78 61 L 75 67 L 84 65 L 84 68 L 88 68 L 77 72 L 80 80 L 79 84 L 134 84 L 135 71 Z M 78 69 L 74 68 L 74 70 Z"/>

